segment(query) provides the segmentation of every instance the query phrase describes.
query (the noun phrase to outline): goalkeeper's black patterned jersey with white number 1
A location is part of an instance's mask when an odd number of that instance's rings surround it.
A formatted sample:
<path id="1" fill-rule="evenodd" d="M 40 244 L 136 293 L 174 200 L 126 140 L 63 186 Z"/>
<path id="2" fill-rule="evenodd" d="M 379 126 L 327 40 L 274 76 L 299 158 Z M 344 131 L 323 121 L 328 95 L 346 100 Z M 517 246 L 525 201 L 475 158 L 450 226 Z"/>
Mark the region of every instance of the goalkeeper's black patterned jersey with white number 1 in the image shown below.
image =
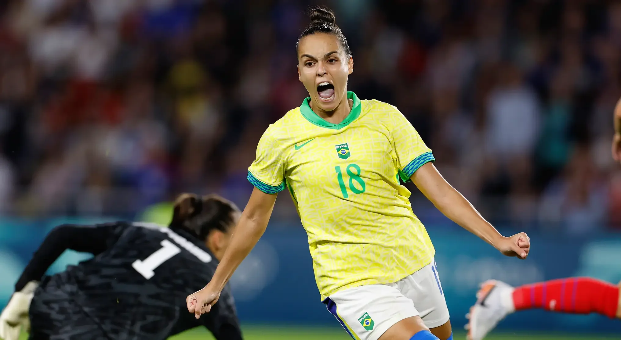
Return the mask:
<path id="1" fill-rule="evenodd" d="M 166 339 L 201 325 L 219 340 L 241 339 L 228 286 L 210 313 L 197 320 L 188 312 L 186 297 L 211 280 L 218 262 L 185 231 L 125 222 L 58 226 L 43 241 L 16 289 L 40 278 L 67 248 L 94 257 L 45 277 L 35 292 L 31 319 L 69 320 L 81 313 L 109 339 Z M 63 310 L 69 315 L 62 315 Z M 33 328 L 45 324 L 32 321 Z M 76 324 L 74 331 L 80 326 Z"/>

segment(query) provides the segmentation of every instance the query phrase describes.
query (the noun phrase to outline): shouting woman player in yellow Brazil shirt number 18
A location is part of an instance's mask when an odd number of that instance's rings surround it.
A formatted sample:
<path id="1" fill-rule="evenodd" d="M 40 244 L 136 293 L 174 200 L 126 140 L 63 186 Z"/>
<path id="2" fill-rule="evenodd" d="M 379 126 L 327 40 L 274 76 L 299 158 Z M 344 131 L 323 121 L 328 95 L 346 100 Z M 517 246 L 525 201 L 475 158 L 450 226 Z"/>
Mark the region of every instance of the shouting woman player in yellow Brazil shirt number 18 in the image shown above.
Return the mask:
<path id="1" fill-rule="evenodd" d="M 315 9 L 311 20 L 297 42 L 297 72 L 309 97 L 261 137 L 248 169 L 255 189 L 213 279 L 188 296 L 188 310 L 198 318 L 213 308 L 263 235 L 276 193 L 288 189 L 322 301 L 353 338 L 450 339 L 435 251 L 399 179 L 413 181 L 446 216 L 507 256 L 525 259 L 528 237 L 503 237 L 487 223 L 440 176 L 431 150 L 396 107 L 348 92 L 347 40 L 332 12 Z"/>

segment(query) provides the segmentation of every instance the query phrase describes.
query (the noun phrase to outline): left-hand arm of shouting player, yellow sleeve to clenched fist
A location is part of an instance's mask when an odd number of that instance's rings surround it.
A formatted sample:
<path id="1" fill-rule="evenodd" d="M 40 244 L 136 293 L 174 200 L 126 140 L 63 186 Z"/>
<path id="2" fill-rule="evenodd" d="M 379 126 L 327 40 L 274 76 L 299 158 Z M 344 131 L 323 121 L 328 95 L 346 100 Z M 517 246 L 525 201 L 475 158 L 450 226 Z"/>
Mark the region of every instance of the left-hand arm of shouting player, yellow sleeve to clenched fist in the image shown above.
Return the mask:
<path id="1" fill-rule="evenodd" d="M 276 195 L 284 190 L 283 146 L 274 138 L 273 133 L 273 125 L 270 125 L 256 147 L 256 159 L 248 168 L 248 181 L 255 189 L 243 209 L 242 217 L 233 231 L 229 247 L 218 264 L 214 277 L 206 287 L 186 298 L 188 311 L 194 313 L 196 318 L 209 312 L 217 302 L 220 292 L 237 266 L 265 232 Z"/>

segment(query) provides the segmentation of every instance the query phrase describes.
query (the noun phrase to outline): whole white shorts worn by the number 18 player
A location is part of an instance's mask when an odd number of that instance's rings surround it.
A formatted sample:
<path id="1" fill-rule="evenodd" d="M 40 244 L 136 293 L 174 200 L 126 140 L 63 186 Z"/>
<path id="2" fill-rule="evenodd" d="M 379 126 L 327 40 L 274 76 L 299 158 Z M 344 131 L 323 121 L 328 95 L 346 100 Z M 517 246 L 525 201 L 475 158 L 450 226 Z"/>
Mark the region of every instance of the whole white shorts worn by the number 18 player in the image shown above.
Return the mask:
<path id="1" fill-rule="evenodd" d="M 435 261 L 392 284 L 363 285 L 330 295 L 328 310 L 356 340 L 377 340 L 393 324 L 420 316 L 425 326 L 449 319 Z"/>

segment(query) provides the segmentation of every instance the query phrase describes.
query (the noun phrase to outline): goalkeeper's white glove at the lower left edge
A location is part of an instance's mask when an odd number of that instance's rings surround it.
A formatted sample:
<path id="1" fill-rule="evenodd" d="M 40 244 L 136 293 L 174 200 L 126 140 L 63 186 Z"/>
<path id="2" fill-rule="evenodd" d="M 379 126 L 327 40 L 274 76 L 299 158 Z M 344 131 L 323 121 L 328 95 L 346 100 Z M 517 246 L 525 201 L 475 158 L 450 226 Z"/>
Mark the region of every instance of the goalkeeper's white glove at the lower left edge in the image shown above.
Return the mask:
<path id="1" fill-rule="evenodd" d="M 11 300 L 0 314 L 0 339 L 18 340 L 22 327 L 24 331 L 30 331 L 28 310 L 37 287 L 38 282 L 30 281 L 24 289 L 13 293 Z"/>

